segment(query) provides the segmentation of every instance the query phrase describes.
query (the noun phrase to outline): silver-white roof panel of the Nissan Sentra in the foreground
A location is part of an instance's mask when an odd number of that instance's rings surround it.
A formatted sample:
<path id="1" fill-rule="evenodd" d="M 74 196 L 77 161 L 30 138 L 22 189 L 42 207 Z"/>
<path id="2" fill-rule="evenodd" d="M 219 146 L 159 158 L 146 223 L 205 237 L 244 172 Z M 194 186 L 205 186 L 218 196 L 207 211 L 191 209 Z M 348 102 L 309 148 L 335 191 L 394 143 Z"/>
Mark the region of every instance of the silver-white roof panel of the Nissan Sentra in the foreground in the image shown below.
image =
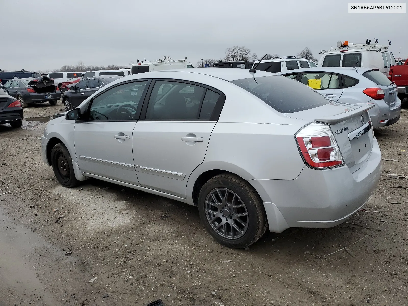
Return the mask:
<path id="1" fill-rule="evenodd" d="M 260 76 L 277 75 L 275 73 L 259 71 L 259 70 L 257 70 L 256 73 L 251 73 L 249 72 L 248 69 L 231 69 L 231 68 L 218 68 L 218 67 L 169 69 L 169 70 L 162 70 L 162 71 L 156 71 L 156 72 L 171 73 L 172 71 L 209 75 L 209 76 L 220 78 L 226 81 L 252 78 L 254 76 L 260 77 Z M 145 72 L 145 73 L 150 73 L 150 72 Z M 140 75 L 142 73 L 138 73 L 138 74 Z M 138 75 L 138 74 L 135 74 L 135 75 Z"/>

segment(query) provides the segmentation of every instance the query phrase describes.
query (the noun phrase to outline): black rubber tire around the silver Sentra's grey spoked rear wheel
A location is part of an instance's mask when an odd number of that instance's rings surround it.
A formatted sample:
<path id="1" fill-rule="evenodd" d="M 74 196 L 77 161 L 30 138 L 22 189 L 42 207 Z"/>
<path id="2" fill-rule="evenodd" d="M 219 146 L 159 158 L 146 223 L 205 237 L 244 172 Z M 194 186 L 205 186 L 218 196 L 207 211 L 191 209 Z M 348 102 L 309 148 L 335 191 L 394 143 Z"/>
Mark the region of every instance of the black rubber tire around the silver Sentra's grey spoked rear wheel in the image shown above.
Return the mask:
<path id="1" fill-rule="evenodd" d="M 224 231 L 223 231 L 224 233 L 232 233 L 230 235 L 231 237 L 226 238 L 226 237 L 223 237 L 220 233 L 218 233 L 215 230 L 215 228 L 213 228 L 213 226 L 210 224 L 210 221 L 207 219 L 207 215 L 209 216 L 211 215 L 211 213 L 206 211 L 206 205 L 208 205 L 206 204 L 206 199 L 207 197 L 210 196 L 211 192 L 214 192 L 215 190 L 220 190 L 217 188 L 221 188 L 221 190 L 225 188 L 225 189 L 228 189 L 229 191 L 232 191 L 232 193 L 235 193 L 235 195 L 238 196 L 238 200 L 242 202 L 242 204 L 244 204 L 245 208 L 240 208 L 240 209 L 245 209 L 247 213 L 247 217 L 244 217 L 244 218 L 247 218 L 247 227 L 245 229 L 244 234 L 241 233 L 242 236 L 238 237 L 237 239 L 233 238 L 234 234 L 233 234 L 233 228 L 231 225 L 229 225 L 229 229 L 231 231 L 228 231 L 228 225 L 222 226 L 222 228 L 224 228 Z M 226 197 L 227 196 L 225 195 L 224 198 Z M 231 203 L 227 203 L 228 207 L 225 207 L 225 208 L 228 208 L 229 210 L 227 211 L 227 213 L 228 215 L 230 215 L 230 222 L 234 222 L 235 220 L 233 220 L 233 218 L 234 217 L 235 219 L 237 218 L 236 215 L 237 213 L 239 214 L 239 211 L 237 211 L 238 208 L 235 208 L 234 210 L 234 208 L 232 208 L 230 204 Z M 220 204 L 220 205 L 225 206 L 225 204 Z M 222 207 L 217 207 L 217 206 L 212 206 L 212 207 L 214 209 L 222 208 Z M 211 208 L 211 210 L 213 208 Z M 226 211 L 225 208 L 224 208 L 224 211 Z M 224 244 L 225 246 L 228 246 L 230 248 L 245 248 L 247 246 L 250 246 L 251 244 L 255 243 L 260 237 L 262 237 L 262 235 L 265 233 L 266 228 L 268 226 L 264 205 L 262 203 L 262 200 L 259 199 L 259 196 L 252 188 L 252 186 L 249 185 L 248 182 L 246 182 L 245 180 L 242 180 L 241 178 L 235 175 L 229 174 L 229 173 L 223 173 L 223 174 L 217 175 L 211 178 L 210 180 L 208 180 L 204 184 L 204 186 L 202 186 L 200 195 L 198 197 L 198 209 L 200 212 L 201 221 L 203 222 L 208 233 L 210 233 L 210 235 L 213 236 L 213 238 L 217 242 Z M 231 211 L 233 213 L 231 213 Z M 217 213 L 223 213 L 223 212 L 222 210 L 219 210 Z M 211 217 L 209 218 L 212 218 L 212 217 L 214 217 L 215 219 L 214 215 L 211 215 Z M 222 215 L 222 217 L 225 217 L 225 216 Z M 221 217 L 219 218 L 220 218 L 219 220 L 222 220 Z M 224 221 L 225 220 L 228 220 L 228 218 L 224 219 Z M 216 222 L 218 221 L 212 222 L 212 224 L 215 223 L 215 225 L 217 225 Z M 235 224 L 237 223 L 235 222 Z M 227 228 L 227 230 L 225 230 L 225 228 Z M 238 232 L 236 231 L 236 233 Z"/>

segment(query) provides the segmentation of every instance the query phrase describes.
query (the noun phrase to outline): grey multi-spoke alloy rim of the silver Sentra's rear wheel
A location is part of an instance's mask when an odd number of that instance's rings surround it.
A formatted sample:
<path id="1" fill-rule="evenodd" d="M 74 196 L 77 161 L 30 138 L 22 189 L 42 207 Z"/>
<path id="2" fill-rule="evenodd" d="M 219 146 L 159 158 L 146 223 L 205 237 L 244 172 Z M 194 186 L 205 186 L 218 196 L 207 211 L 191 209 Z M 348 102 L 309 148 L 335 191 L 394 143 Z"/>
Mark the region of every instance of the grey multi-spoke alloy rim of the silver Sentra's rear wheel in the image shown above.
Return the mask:
<path id="1" fill-rule="evenodd" d="M 215 188 L 208 193 L 205 214 L 213 230 L 226 239 L 238 239 L 248 229 L 248 211 L 244 202 L 227 188 Z"/>

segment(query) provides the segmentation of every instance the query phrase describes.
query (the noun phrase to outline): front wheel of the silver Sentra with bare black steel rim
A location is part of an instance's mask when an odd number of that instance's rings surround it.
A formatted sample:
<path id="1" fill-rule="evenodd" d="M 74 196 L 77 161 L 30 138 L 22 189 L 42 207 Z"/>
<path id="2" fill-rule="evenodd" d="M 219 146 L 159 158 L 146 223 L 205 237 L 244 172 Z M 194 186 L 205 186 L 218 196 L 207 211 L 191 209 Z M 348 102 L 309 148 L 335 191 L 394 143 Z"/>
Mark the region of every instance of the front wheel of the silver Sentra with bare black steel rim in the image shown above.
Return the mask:
<path id="1" fill-rule="evenodd" d="M 55 144 L 51 150 L 51 165 L 55 177 L 63 186 L 72 188 L 79 184 L 75 177 L 71 155 L 61 142 Z"/>

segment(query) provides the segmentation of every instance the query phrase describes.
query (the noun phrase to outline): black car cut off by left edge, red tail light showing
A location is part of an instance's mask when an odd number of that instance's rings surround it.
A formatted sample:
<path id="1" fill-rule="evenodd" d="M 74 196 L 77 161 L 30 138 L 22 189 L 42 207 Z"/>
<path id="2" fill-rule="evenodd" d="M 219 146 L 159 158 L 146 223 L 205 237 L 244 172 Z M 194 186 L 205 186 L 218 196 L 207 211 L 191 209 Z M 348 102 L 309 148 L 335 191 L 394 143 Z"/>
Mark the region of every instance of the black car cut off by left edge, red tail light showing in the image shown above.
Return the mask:
<path id="1" fill-rule="evenodd" d="M 0 88 L 0 124 L 9 123 L 11 127 L 20 127 L 23 118 L 24 113 L 20 101 Z"/>

